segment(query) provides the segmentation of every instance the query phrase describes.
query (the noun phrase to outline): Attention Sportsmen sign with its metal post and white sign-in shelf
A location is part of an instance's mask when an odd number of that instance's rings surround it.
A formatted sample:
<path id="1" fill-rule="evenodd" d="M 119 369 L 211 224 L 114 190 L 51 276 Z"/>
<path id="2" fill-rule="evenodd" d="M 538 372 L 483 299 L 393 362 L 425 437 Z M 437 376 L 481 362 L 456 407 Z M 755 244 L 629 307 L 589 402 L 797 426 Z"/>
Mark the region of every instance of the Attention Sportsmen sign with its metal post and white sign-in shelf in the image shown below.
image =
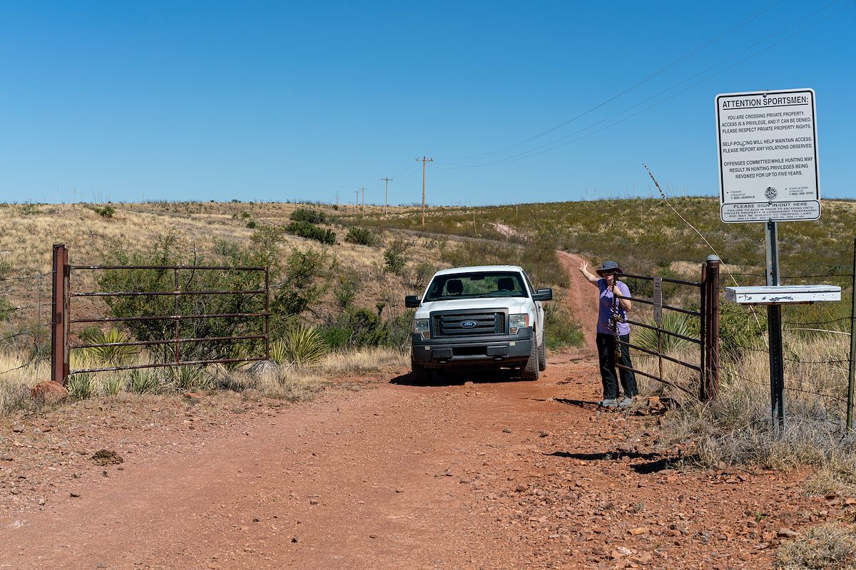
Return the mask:
<path id="1" fill-rule="evenodd" d="M 782 304 L 841 294 L 840 288 L 816 291 L 811 285 L 786 294 L 779 275 L 776 222 L 820 218 L 815 109 L 811 89 L 716 96 L 720 217 L 726 223 L 764 222 L 767 252 L 767 287 L 727 288 L 726 296 L 732 289 L 737 303 L 767 305 L 770 410 L 780 433 L 785 422 Z"/>

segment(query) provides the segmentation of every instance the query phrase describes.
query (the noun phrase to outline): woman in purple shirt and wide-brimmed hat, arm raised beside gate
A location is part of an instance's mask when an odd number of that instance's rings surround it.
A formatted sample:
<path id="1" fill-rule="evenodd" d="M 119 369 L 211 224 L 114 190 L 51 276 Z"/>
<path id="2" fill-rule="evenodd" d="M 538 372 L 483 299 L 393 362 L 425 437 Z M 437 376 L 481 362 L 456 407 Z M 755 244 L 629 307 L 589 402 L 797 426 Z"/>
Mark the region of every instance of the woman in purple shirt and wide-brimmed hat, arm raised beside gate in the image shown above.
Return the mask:
<path id="1" fill-rule="evenodd" d="M 636 375 L 630 361 L 630 347 L 620 344 L 619 370 L 621 376 L 621 390 L 624 397 L 618 401 L 618 378 L 615 376 L 615 327 L 618 327 L 617 336 L 622 343 L 630 342 L 630 325 L 624 322 L 627 311 L 632 307 L 630 303 L 630 289 L 627 284 L 615 279 L 615 273 L 623 273 L 621 267 L 615 261 L 603 261 L 601 267 L 597 267 L 596 275 L 588 270 L 585 261 L 580 265 L 580 271 L 592 285 L 597 286 L 600 291 L 597 311 L 597 358 L 600 361 L 600 377 L 603 381 L 603 408 L 627 408 L 633 404 L 633 397 L 639 394 L 636 387 Z M 613 314 L 615 317 L 613 318 Z"/>

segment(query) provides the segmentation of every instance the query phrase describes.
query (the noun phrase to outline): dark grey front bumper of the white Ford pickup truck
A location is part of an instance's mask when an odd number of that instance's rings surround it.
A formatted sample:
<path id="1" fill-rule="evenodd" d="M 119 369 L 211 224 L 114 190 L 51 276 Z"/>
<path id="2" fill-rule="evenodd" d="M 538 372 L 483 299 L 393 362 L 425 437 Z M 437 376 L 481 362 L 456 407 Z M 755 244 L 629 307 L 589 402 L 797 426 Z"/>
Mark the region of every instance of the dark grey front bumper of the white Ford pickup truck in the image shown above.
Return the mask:
<path id="1" fill-rule="evenodd" d="M 422 338 L 413 333 L 411 343 L 413 362 L 426 368 L 518 367 L 532 353 L 532 327 L 489 337 Z"/>

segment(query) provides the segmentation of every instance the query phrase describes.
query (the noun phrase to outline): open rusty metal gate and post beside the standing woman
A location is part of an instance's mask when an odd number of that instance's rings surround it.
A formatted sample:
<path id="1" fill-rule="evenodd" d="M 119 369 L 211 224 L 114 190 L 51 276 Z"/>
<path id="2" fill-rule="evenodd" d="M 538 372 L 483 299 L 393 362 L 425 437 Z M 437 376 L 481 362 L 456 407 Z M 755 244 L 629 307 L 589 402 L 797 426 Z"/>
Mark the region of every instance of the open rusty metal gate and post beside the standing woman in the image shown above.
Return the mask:
<path id="1" fill-rule="evenodd" d="M 651 281 L 653 295 L 650 299 L 633 297 L 633 303 L 643 303 L 651 305 L 654 311 L 654 322 L 656 326 L 637 322 L 634 320 L 625 319 L 622 322 L 627 322 L 634 326 L 651 329 L 657 332 L 656 352 L 645 349 L 633 343 L 624 342 L 617 336 L 615 343 L 626 345 L 633 350 L 639 350 L 646 354 L 657 356 L 660 359 L 659 376 L 654 376 L 649 373 L 642 372 L 636 368 L 625 367 L 621 363 L 616 362 L 616 366 L 625 370 L 632 370 L 633 373 L 641 374 L 647 378 L 655 379 L 664 384 L 670 384 L 668 380 L 663 379 L 663 360 L 668 360 L 680 364 L 683 367 L 690 368 L 698 373 L 698 397 L 701 400 L 710 400 L 716 398 L 719 391 L 719 265 L 720 260 L 717 256 L 709 256 L 701 267 L 701 281 L 683 281 L 681 279 L 666 279 L 663 277 L 651 277 L 647 275 L 631 275 L 628 273 L 616 273 L 616 277 L 627 277 L 631 279 L 642 279 Z M 693 287 L 698 290 L 698 311 L 691 309 L 683 309 L 663 303 L 663 282 L 672 283 L 675 285 L 683 285 Z M 687 337 L 663 329 L 662 314 L 663 309 L 675 311 L 682 314 L 698 317 L 700 320 L 698 338 Z M 663 354 L 662 338 L 663 335 L 671 335 L 676 338 L 681 338 L 690 343 L 697 344 L 699 350 L 698 366 L 690 362 L 681 361 L 672 356 Z"/>

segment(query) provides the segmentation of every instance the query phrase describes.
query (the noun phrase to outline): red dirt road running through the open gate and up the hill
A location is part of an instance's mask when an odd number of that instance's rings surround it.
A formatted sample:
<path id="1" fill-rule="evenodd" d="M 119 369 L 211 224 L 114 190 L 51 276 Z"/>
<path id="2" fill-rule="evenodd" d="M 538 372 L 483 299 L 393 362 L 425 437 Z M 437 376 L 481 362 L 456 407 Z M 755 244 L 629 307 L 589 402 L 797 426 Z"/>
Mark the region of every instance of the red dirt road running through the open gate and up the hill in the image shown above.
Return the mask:
<path id="1" fill-rule="evenodd" d="M 563 259 L 591 331 L 594 292 Z M 599 386 L 586 349 L 537 382 L 391 370 L 311 403 L 126 395 L 7 418 L 0 568 L 758 568 L 780 529 L 845 508 L 805 498 L 806 473 L 681 467 L 657 414 L 602 413 Z"/>

